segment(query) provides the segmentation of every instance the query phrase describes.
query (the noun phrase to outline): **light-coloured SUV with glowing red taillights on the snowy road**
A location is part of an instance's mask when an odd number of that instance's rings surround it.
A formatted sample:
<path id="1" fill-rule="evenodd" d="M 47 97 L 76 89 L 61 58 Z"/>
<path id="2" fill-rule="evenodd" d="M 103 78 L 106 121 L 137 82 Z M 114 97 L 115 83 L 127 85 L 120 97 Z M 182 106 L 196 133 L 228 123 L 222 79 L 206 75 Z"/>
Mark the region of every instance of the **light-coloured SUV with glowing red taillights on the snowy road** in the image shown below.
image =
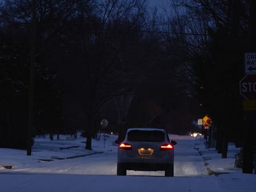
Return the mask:
<path id="1" fill-rule="evenodd" d="M 164 170 L 174 177 L 174 145 L 164 129 L 130 128 L 118 147 L 117 175 L 127 170 Z"/>

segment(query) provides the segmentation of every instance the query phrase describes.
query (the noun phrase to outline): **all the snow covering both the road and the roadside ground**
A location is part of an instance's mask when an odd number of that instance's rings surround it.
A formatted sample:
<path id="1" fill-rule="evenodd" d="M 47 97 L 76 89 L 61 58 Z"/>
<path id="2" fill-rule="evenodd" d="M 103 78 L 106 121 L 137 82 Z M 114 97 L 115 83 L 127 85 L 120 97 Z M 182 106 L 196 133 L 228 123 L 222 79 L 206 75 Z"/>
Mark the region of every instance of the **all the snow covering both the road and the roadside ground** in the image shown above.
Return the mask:
<path id="1" fill-rule="evenodd" d="M 84 138 L 70 141 L 66 137 L 54 141 L 35 138 L 32 156 L 23 150 L 0 148 L 0 166 L 13 166 L 0 167 L 0 191 L 256 191 L 256 175 L 234 168 L 239 148 L 231 143 L 228 158 L 222 159 L 214 148 L 205 148 L 202 138 L 170 135 L 178 143 L 174 178 L 154 177 L 163 175 L 161 172 L 131 171 L 124 177 L 116 176 L 116 135 L 106 135 L 105 147 L 103 138 L 93 140 L 92 151 L 85 150 Z M 70 146 L 78 147 L 60 150 Z M 84 157 L 69 159 L 81 155 Z M 207 167 L 218 174 L 207 175 Z"/>

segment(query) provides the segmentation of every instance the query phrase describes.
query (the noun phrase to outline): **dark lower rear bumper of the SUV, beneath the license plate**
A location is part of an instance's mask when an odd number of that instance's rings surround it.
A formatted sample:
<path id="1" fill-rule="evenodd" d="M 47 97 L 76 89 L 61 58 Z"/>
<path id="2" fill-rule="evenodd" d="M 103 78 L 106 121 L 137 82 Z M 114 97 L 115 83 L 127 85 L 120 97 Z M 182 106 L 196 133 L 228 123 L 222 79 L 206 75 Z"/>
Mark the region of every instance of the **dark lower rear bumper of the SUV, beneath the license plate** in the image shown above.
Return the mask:
<path id="1" fill-rule="evenodd" d="M 158 163 L 134 163 L 134 162 L 122 162 L 118 163 L 119 166 L 124 167 L 126 170 L 166 170 L 168 165 L 172 164 L 158 164 Z"/>

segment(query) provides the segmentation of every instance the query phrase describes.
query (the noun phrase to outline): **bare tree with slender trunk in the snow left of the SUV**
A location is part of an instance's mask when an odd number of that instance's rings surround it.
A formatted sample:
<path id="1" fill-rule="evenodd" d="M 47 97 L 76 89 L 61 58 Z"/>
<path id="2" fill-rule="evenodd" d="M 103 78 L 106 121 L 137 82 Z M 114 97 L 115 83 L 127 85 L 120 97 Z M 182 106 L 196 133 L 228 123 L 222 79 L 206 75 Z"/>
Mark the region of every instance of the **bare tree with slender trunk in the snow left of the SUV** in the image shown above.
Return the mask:
<path id="1" fill-rule="evenodd" d="M 138 35 L 143 23 L 145 1 L 110 0 L 94 2 L 92 15 L 86 15 L 82 1 L 79 9 L 79 47 L 81 62 L 84 63 L 83 108 L 86 114 L 87 142 L 91 150 L 93 123 L 99 108 L 111 98 L 126 94 L 129 39 Z"/>

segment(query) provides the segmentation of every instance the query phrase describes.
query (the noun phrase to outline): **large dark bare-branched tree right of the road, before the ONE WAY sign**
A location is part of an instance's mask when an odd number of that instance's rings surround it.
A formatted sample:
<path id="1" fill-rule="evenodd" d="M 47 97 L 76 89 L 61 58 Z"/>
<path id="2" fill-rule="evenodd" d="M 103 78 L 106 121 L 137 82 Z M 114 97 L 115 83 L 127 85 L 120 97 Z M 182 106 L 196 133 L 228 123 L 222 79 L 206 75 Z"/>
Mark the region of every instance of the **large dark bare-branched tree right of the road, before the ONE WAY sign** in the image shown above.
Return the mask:
<path id="1" fill-rule="evenodd" d="M 194 90 L 202 102 L 202 113 L 210 111 L 218 124 L 217 149 L 226 158 L 228 138 L 234 129 L 226 124 L 227 114 L 236 116 L 236 132 L 241 127 L 241 98 L 237 90 L 241 79 L 242 55 L 252 42 L 249 36 L 251 1 L 243 0 L 191 0 L 170 1 L 172 10 L 166 10 L 166 29 L 188 55 L 181 77 Z M 255 27 L 255 26 L 254 26 Z M 250 40 L 249 40 L 250 39 Z M 182 63 L 182 62 L 181 62 Z M 210 73 L 206 73 L 210 71 Z M 233 71 L 232 74 L 228 71 Z M 182 74 L 182 73 L 177 73 Z M 234 84 L 235 86 L 228 86 Z M 226 106 L 226 98 L 233 104 Z M 236 105 L 234 105 L 236 103 Z M 226 107 L 223 108 L 223 105 Z M 236 113 L 234 111 L 237 111 Z M 238 126 L 240 125 L 240 126 Z M 235 134 L 234 134 L 235 135 Z M 236 136 L 236 140 L 238 140 Z"/>

